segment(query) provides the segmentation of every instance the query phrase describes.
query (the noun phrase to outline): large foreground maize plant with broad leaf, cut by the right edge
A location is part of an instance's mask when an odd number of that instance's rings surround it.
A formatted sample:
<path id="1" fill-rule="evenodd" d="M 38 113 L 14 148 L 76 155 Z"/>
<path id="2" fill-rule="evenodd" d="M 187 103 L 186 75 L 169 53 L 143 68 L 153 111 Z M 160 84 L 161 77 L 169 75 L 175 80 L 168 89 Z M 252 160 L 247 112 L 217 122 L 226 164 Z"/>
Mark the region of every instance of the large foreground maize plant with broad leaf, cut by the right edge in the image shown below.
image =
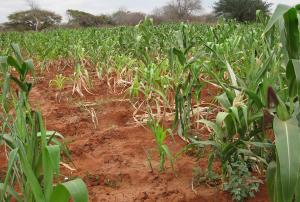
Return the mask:
<path id="1" fill-rule="evenodd" d="M 300 201 L 300 4 L 295 7 L 279 5 L 265 29 L 274 32 L 278 22 L 285 60 L 286 93 L 269 87 L 268 103 L 274 116 L 273 129 L 276 145 L 276 162 L 268 167 L 268 188 L 272 201 Z M 275 30 L 276 31 L 276 30 Z"/>

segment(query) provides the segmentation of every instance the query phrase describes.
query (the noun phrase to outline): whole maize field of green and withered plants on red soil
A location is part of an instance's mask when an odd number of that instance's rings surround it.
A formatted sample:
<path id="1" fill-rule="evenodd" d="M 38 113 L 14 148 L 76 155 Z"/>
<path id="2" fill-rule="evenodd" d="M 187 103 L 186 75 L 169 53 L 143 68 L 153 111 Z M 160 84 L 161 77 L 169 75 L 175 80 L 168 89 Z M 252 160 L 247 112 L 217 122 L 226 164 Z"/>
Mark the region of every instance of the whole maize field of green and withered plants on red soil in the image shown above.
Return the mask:
<path id="1" fill-rule="evenodd" d="M 0 33 L 0 201 L 299 201 L 298 18 Z"/>

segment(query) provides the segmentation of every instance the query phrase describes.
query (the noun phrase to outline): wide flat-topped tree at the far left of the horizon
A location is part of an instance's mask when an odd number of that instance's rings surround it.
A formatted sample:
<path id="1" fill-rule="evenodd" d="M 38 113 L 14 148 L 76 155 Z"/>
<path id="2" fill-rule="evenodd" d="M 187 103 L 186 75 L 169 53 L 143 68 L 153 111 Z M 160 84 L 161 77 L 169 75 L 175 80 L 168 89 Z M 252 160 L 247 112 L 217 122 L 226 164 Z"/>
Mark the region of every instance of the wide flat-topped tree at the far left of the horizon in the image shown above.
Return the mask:
<path id="1" fill-rule="evenodd" d="M 5 23 L 7 28 L 39 31 L 59 24 L 62 17 L 51 11 L 31 9 L 10 14 L 8 20 Z"/>

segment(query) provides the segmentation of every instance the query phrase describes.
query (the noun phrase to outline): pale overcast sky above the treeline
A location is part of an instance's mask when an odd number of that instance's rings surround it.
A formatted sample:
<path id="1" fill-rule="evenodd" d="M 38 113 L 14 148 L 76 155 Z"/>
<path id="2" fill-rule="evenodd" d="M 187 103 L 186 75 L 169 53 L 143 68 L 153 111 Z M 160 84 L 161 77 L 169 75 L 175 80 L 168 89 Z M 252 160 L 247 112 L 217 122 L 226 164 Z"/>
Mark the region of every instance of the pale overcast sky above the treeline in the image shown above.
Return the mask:
<path id="1" fill-rule="evenodd" d="M 119 8 L 126 8 L 131 11 L 142 11 L 151 13 L 155 8 L 165 5 L 169 0 L 35 0 L 38 5 L 47 10 L 65 16 L 67 9 L 77 9 L 93 14 L 109 14 Z M 204 12 L 212 10 L 216 0 L 202 0 Z M 294 5 L 300 0 L 269 0 L 274 5 L 284 3 Z M 7 16 L 20 10 L 28 9 L 26 0 L 0 0 L 0 23 L 7 21 Z"/>

